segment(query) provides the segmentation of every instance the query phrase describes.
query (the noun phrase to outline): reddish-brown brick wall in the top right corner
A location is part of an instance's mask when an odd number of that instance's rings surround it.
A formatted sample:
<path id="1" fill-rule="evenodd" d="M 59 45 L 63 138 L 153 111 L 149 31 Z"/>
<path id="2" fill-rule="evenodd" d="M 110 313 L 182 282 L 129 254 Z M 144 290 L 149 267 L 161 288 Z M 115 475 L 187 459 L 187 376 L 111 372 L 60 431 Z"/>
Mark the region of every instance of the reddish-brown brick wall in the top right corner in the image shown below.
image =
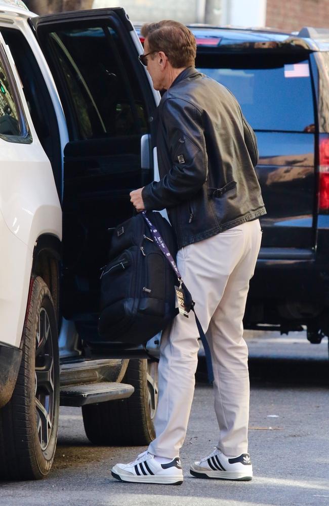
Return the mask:
<path id="1" fill-rule="evenodd" d="M 267 0 L 266 26 L 289 32 L 303 26 L 329 28 L 329 0 Z"/>

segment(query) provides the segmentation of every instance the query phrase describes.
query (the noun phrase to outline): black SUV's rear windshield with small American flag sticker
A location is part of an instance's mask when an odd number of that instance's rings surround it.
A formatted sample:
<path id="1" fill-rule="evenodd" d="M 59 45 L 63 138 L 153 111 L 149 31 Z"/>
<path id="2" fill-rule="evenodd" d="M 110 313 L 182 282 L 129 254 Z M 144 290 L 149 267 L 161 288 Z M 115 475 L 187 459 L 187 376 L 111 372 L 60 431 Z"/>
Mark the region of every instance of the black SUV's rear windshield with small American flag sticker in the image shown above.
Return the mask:
<path id="1" fill-rule="evenodd" d="M 196 67 L 235 95 L 254 130 L 314 130 L 308 60 L 199 53 Z"/>

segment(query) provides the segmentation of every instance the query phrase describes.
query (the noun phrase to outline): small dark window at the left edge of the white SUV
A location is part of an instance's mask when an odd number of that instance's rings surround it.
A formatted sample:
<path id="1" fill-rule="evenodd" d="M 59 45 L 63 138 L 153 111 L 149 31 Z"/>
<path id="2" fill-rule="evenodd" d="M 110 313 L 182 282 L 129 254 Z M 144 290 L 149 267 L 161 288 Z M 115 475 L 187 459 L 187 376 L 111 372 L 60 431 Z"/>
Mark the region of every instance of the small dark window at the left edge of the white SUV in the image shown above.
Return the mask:
<path id="1" fill-rule="evenodd" d="M 7 72 L 0 60 L 0 135 L 20 135 L 17 107 Z"/>

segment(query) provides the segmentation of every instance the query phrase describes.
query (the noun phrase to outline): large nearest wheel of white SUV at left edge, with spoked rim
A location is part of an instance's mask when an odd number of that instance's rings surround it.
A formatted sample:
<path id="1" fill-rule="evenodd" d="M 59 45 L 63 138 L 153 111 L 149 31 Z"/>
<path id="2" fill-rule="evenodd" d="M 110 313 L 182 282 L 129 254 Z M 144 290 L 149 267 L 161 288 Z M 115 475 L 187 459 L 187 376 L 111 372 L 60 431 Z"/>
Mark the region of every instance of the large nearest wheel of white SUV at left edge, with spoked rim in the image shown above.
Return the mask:
<path id="1" fill-rule="evenodd" d="M 0 477 L 35 480 L 51 470 L 59 414 L 58 333 L 45 281 L 32 279 L 22 362 L 11 400 L 0 410 Z"/>

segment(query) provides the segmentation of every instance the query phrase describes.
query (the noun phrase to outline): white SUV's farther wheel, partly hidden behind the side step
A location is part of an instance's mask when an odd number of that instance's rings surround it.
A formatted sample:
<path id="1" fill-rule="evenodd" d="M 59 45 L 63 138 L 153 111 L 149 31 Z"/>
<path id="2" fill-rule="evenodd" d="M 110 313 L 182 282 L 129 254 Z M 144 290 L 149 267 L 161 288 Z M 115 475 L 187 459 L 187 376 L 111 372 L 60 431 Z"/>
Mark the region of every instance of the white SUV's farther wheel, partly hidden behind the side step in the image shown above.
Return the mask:
<path id="1" fill-rule="evenodd" d="M 83 406 L 86 435 L 93 444 L 145 446 L 154 439 L 157 366 L 153 360 L 130 360 L 122 383 L 134 387 L 131 397 Z"/>

